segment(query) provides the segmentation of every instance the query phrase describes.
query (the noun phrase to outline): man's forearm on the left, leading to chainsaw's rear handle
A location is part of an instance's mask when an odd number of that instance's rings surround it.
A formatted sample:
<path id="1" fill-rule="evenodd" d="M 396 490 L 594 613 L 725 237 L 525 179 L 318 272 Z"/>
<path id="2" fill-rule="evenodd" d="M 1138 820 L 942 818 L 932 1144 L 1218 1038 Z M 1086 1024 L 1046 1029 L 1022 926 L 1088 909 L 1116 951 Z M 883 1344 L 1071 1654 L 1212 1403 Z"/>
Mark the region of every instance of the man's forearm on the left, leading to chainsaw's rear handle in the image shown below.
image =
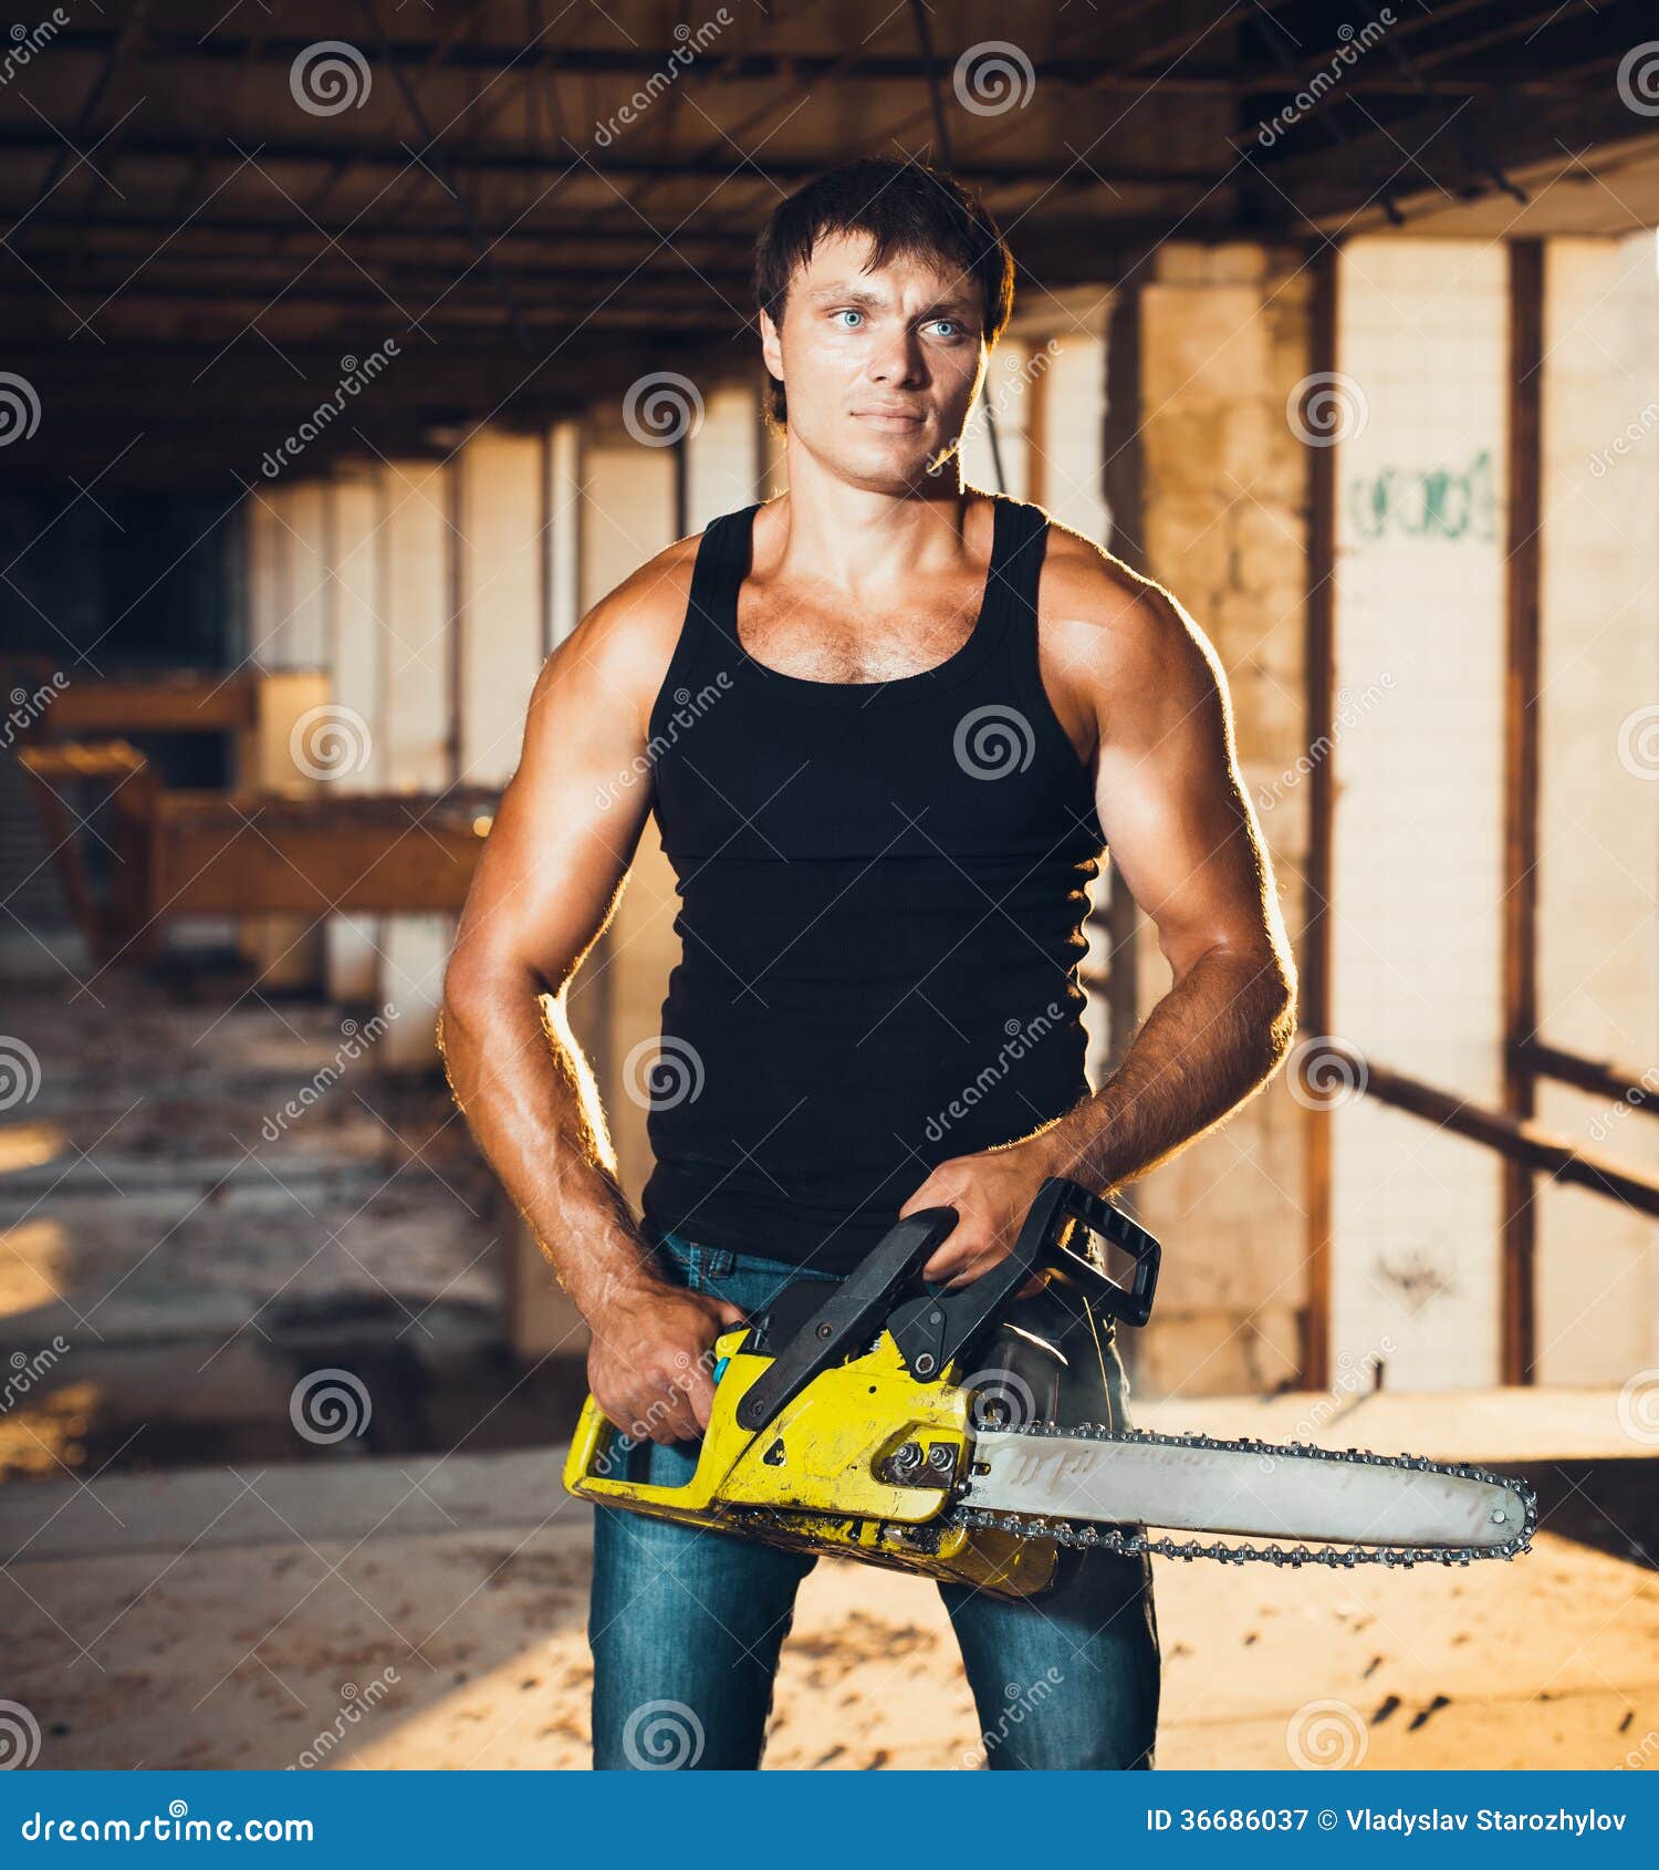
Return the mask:
<path id="1" fill-rule="evenodd" d="M 562 1014 L 546 1019 L 542 1004 L 531 980 L 447 993 L 443 1058 L 489 1167 L 592 1322 L 658 1273 L 617 1184 L 598 1100 L 583 1096 L 587 1060 Z"/>

